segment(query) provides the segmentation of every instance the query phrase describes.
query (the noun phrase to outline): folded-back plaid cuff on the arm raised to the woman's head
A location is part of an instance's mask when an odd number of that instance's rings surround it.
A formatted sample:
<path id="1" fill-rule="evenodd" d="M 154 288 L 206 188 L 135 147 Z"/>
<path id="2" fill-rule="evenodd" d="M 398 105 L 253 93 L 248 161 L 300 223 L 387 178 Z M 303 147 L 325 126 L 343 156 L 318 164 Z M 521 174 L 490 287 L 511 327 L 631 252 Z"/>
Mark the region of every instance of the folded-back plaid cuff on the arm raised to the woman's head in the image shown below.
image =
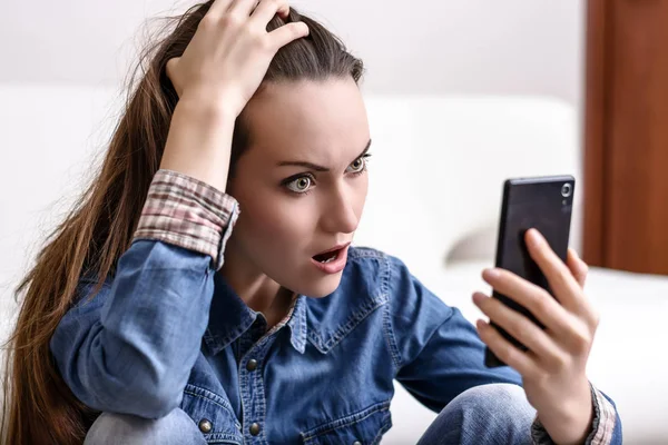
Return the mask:
<path id="1" fill-rule="evenodd" d="M 209 255 L 218 270 L 238 214 L 232 196 L 187 175 L 160 169 L 148 189 L 132 241 L 160 240 Z"/>

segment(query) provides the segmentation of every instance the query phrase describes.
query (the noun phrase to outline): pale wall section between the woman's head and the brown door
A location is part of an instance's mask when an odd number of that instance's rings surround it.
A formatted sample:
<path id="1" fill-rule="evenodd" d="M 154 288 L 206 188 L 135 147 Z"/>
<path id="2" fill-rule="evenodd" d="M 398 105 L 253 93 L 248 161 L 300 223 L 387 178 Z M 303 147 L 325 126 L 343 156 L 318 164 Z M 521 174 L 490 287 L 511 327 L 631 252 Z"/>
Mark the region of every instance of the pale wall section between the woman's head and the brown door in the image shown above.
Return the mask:
<path id="1" fill-rule="evenodd" d="M 301 1 L 391 92 L 551 95 L 578 103 L 579 0 Z"/>

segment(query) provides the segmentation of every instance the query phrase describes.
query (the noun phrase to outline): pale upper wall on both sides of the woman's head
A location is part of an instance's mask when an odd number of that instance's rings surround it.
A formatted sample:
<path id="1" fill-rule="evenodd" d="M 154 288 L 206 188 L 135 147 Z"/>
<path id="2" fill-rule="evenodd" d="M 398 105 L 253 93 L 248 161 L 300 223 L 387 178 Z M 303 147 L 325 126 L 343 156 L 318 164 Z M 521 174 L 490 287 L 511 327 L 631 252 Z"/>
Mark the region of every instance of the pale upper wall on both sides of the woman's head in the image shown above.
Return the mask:
<path id="1" fill-rule="evenodd" d="M 116 85 L 147 17 L 184 0 L 6 1 L 0 82 Z M 539 93 L 580 101 L 582 0 L 296 0 L 367 63 L 373 92 Z"/>

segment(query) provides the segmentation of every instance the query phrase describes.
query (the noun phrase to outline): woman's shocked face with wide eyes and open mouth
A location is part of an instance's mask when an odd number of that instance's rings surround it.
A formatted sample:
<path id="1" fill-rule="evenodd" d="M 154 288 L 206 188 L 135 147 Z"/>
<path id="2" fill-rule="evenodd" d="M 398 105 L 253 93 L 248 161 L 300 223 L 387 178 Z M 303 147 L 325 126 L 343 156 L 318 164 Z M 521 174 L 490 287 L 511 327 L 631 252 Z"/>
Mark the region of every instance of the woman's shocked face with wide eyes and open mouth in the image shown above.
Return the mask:
<path id="1" fill-rule="evenodd" d="M 250 146 L 228 192 L 240 207 L 227 249 L 235 260 L 311 297 L 336 289 L 364 200 L 370 145 L 352 78 L 271 83 L 245 111 Z M 318 261 L 320 260 L 320 261 Z"/>

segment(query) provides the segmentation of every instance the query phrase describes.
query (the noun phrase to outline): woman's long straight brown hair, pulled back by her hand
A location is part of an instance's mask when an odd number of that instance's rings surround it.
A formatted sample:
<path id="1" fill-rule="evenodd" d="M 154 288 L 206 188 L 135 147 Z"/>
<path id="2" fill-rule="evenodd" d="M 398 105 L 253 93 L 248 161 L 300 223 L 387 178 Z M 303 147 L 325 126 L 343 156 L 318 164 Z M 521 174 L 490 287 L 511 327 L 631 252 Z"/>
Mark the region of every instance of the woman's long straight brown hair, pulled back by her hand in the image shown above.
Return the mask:
<path id="1" fill-rule="evenodd" d="M 65 220 L 49 234 L 35 266 L 16 288 L 17 300 L 24 295 L 16 329 L 7 343 L 0 434 L 3 443 L 80 444 L 99 415 L 78 400 L 65 384 L 49 342 L 75 300 L 81 275 L 97 276 L 95 296 L 131 244 L 178 101 L 165 67 L 169 59 L 183 55 L 212 3 L 196 4 L 183 16 L 164 18 L 167 24 L 161 30 L 167 30 L 167 36 L 140 53 L 127 81 L 124 112 L 99 171 Z M 341 40 L 313 19 L 292 10 L 286 21 L 296 20 L 306 22 L 310 34 L 277 52 L 265 82 L 346 76 L 360 80 L 362 61 L 347 52 Z M 284 23 L 276 16 L 267 31 Z M 249 131 L 242 113 L 235 125 L 230 170 L 248 145 Z"/>

